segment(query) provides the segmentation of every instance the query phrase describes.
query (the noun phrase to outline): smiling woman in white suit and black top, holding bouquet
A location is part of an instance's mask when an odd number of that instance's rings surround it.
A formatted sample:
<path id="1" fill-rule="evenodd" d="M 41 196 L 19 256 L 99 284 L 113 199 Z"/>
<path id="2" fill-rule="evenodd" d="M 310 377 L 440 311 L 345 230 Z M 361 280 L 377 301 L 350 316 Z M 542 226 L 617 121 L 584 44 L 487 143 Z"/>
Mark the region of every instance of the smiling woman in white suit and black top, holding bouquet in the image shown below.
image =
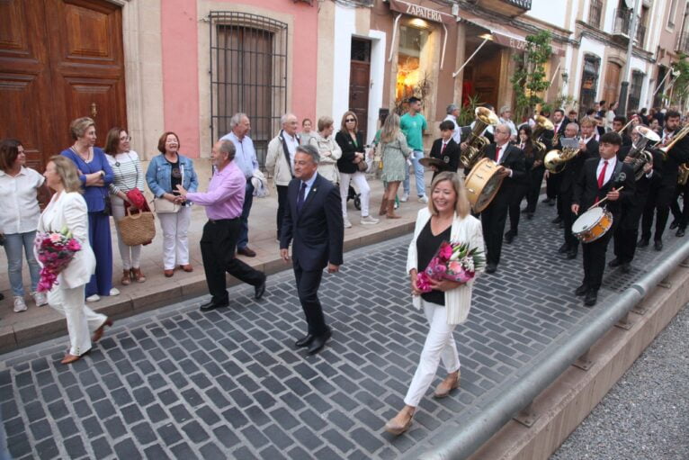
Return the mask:
<path id="1" fill-rule="evenodd" d="M 425 270 L 443 241 L 469 243 L 470 248 L 479 248 L 485 254 L 481 222 L 470 214 L 461 179 L 450 172 L 435 176 L 431 200 L 427 208 L 419 210 L 414 238 L 409 244 L 407 273 L 413 304 L 417 309 L 424 308 L 430 329 L 404 400 L 405 407 L 385 424 L 386 431 L 394 435 L 404 433 L 411 426 L 416 407 L 433 382 L 441 360 L 447 376 L 435 389 L 434 397 L 443 398 L 460 385 L 460 357 L 452 331 L 457 324 L 467 320 L 471 288 L 476 277 L 466 284 L 450 280 L 432 281 L 433 291 L 430 293 L 421 293 L 416 285 L 416 275 Z"/>

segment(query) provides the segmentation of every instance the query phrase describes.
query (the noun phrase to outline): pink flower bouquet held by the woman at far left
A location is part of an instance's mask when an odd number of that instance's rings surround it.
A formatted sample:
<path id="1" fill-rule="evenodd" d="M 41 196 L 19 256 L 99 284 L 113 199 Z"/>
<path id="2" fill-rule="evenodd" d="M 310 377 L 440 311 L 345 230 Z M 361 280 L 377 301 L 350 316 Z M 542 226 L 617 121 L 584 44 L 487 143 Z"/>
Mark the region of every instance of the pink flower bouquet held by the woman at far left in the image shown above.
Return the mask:
<path id="1" fill-rule="evenodd" d="M 53 285 L 58 284 L 58 275 L 69 265 L 76 252 L 81 250 L 81 244 L 67 229 L 38 233 L 34 244 L 42 265 L 36 291 L 45 293 L 52 289 Z"/>

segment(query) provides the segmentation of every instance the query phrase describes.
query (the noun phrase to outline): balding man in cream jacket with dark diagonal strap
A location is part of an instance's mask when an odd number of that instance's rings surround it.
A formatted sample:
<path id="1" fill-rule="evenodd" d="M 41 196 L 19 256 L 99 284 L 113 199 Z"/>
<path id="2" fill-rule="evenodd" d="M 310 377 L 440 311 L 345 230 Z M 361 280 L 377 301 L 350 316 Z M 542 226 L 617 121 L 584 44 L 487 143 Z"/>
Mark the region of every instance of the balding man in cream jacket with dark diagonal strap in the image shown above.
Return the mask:
<path id="1" fill-rule="evenodd" d="M 299 121 L 294 113 L 285 113 L 280 119 L 282 130 L 268 144 L 265 158 L 265 169 L 273 176 L 273 183 L 278 191 L 277 239 L 280 240 L 280 229 L 287 206 L 287 187 L 294 178 L 294 155 L 300 145 L 297 128 Z"/>

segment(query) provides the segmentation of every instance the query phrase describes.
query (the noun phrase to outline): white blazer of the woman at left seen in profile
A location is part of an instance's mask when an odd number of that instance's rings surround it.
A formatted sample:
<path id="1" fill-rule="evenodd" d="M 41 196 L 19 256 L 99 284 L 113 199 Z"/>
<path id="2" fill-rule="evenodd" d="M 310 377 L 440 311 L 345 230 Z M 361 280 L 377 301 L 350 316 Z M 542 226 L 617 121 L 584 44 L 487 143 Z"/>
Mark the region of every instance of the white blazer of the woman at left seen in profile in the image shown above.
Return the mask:
<path id="1" fill-rule="evenodd" d="M 88 242 L 88 209 L 84 197 L 77 192 L 53 195 L 45 211 L 40 214 L 38 231 L 62 231 L 64 228 L 79 241 L 81 250 L 58 275 L 58 287 L 75 288 L 88 283 L 95 272 L 94 251 Z"/>

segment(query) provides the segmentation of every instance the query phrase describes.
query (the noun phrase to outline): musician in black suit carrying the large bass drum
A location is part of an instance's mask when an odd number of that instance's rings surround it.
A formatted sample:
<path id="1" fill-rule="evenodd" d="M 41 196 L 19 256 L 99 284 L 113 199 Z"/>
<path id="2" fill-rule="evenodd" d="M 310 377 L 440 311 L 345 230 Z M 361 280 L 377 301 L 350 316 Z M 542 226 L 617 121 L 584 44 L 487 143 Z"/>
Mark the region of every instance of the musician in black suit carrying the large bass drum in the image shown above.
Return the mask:
<path id="1" fill-rule="evenodd" d="M 509 126 L 498 124 L 493 131 L 496 142 L 489 144 L 481 155 L 497 161 L 502 166 L 498 174 L 505 177 L 493 201 L 481 212 L 483 238 L 486 239 L 486 273 L 495 273 L 497 270 L 509 205 L 518 185 L 526 181 L 523 151 L 509 143 L 511 134 Z"/>

